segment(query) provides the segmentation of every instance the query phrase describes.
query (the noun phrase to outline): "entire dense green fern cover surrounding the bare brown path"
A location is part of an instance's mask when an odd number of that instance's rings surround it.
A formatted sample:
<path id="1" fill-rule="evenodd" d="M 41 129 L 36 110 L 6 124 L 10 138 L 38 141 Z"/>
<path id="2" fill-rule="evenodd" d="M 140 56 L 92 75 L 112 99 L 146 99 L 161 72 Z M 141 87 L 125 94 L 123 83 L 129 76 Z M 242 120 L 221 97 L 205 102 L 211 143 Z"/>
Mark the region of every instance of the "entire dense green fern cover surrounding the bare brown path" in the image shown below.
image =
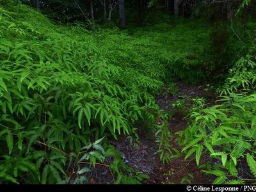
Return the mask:
<path id="1" fill-rule="evenodd" d="M 123 30 L 83 19 L 56 24 L 45 14 L 0 1 L 0 184 L 84 184 L 102 164 L 113 183 L 140 184 L 148 175 L 127 166 L 109 141 L 136 144 L 141 129 L 157 140 L 163 163 L 183 153 L 215 175 L 214 184 L 255 182 L 253 20 L 148 12 L 144 26 Z M 182 152 L 170 145 L 172 113 L 156 104 L 162 88 L 175 95 L 180 81 L 207 82 L 220 95 L 214 106 L 197 99 L 186 109 Z M 202 154 L 211 161 L 201 164 Z"/>

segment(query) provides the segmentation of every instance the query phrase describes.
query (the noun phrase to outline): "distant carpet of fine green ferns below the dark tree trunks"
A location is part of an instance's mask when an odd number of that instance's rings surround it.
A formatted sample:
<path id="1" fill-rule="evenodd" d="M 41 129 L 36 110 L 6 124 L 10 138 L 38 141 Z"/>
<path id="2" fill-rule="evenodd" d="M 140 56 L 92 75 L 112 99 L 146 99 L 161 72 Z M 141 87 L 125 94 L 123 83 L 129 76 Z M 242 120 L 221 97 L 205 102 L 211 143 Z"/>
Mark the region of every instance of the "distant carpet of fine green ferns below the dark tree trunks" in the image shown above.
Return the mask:
<path id="1" fill-rule="evenodd" d="M 209 45 L 211 29 L 207 24 L 180 20 L 127 31 L 97 31 L 97 44 L 106 58 L 126 70 L 136 70 L 172 86 L 174 79 L 196 84 L 207 78 L 200 70 L 202 54 Z M 207 65 L 205 63 L 205 65 Z"/>

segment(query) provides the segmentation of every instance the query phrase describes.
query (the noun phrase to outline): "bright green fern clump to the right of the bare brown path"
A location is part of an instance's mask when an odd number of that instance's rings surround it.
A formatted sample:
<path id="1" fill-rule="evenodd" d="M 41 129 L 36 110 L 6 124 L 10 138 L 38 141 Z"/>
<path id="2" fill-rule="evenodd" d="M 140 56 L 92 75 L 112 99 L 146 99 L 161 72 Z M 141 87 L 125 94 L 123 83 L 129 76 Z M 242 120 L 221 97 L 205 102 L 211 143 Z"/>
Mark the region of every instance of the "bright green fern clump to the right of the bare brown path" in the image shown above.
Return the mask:
<path id="1" fill-rule="evenodd" d="M 213 184 L 255 184 L 255 46 L 232 67 L 217 104 L 191 111 L 191 122 L 178 132 L 188 159 L 195 155 Z M 204 156 L 206 161 L 201 161 Z"/>

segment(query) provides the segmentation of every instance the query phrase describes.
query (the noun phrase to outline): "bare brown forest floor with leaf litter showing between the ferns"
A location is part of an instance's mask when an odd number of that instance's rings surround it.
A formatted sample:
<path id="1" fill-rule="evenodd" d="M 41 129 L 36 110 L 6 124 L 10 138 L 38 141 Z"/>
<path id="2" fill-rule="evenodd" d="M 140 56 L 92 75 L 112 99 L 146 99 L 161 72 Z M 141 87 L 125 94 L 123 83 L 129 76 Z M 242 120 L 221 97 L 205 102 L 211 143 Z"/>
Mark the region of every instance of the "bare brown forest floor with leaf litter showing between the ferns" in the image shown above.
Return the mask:
<path id="1" fill-rule="evenodd" d="M 186 129 L 188 122 L 184 119 L 185 115 L 179 111 L 172 109 L 172 103 L 183 97 L 205 97 L 209 93 L 205 93 L 205 86 L 191 86 L 182 83 L 177 84 L 178 93 L 176 96 L 170 94 L 160 94 L 157 97 L 157 104 L 166 112 L 173 112 L 172 119 L 169 122 L 170 132 L 172 133 L 171 145 L 181 150 L 175 139 L 175 132 Z M 214 104 L 214 94 L 207 99 L 207 104 Z M 143 184 L 211 184 L 213 178 L 201 173 L 196 166 L 194 158 L 184 160 L 184 156 L 172 159 L 170 163 L 163 164 L 157 153 L 158 144 L 151 136 L 140 134 L 138 147 L 134 147 L 128 140 L 112 141 L 116 149 L 123 154 L 125 164 L 139 170 L 141 173 L 147 174 L 150 178 L 145 180 Z M 202 156 L 202 162 L 207 159 Z M 189 175 L 193 175 L 190 177 Z M 187 180 L 186 180 L 187 179 Z M 183 181 L 182 181 L 183 180 Z M 91 184 L 113 183 L 113 178 L 108 168 L 99 167 L 92 173 Z"/>

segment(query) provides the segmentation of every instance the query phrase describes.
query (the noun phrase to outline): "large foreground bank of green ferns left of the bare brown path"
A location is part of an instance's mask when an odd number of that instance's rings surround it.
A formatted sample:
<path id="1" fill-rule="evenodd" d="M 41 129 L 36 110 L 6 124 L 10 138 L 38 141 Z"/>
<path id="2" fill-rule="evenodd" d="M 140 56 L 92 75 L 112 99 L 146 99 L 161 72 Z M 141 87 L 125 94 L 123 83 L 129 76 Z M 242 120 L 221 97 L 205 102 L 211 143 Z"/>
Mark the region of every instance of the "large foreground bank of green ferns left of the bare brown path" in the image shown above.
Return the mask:
<path id="1" fill-rule="evenodd" d="M 0 4 L 0 183 L 86 183 L 97 164 L 115 184 L 147 178 L 108 140 L 136 138 L 136 122 L 147 119 L 168 141 L 152 96 L 161 81 L 109 63 L 80 26 L 57 27 L 27 6 Z M 162 143 L 166 161 L 170 146 Z"/>

